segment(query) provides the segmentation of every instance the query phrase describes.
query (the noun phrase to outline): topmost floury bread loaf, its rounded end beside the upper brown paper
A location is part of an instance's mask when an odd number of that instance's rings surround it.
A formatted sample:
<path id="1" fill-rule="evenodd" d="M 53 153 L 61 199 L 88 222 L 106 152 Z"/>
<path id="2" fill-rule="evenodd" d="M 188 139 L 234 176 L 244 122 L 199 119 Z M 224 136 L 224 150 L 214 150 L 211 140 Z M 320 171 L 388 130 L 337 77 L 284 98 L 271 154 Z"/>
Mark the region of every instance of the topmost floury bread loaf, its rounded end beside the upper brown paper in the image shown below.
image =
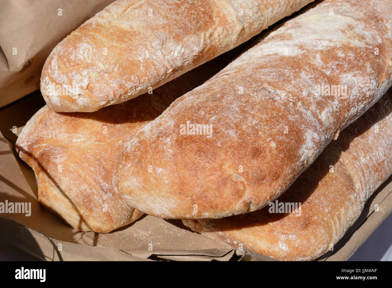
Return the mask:
<path id="1" fill-rule="evenodd" d="M 168 82 L 313 0 L 118 0 L 60 42 L 41 91 L 60 112 L 92 112 Z"/>

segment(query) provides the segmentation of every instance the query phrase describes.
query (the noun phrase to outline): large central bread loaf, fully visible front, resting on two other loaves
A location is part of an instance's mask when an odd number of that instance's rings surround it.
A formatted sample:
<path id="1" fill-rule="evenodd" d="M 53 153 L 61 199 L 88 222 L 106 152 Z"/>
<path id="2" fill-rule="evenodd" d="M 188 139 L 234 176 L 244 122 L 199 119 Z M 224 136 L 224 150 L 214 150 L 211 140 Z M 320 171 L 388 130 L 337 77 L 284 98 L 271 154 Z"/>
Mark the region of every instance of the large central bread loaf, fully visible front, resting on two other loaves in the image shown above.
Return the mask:
<path id="1" fill-rule="evenodd" d="M 390 87 L 392 2 L 325 0 L 146 125 L 113 183 L 162 218 L 221 218 L 280 196 Z"/>

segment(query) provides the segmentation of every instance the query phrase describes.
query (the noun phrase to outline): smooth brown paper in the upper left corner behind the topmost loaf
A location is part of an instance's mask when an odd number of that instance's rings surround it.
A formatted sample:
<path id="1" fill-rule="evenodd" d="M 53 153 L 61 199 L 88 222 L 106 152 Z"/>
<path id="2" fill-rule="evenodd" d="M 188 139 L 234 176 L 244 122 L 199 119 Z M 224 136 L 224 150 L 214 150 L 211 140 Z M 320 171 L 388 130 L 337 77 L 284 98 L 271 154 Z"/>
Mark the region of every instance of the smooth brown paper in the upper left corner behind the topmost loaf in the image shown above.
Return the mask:
<path id="1" fill-rule="evenodd" d="M 113 1 L 2 0 L 0 107 L 39 89 L 42 67 L 53 48 Z"/>

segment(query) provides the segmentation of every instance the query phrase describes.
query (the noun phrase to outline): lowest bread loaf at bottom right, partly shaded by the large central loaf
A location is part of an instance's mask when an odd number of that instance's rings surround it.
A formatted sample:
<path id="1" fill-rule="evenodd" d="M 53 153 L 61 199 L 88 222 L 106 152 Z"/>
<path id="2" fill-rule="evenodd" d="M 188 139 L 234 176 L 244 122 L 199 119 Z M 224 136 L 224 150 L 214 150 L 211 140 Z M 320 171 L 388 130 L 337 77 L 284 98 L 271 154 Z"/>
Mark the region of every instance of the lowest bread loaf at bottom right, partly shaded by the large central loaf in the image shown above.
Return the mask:
<path id="1" fill-rule="evenodd" d="M 277 199 L 278 206 L 294 203 L 296 212 L 276 213 L 275 202 L 245 215 L 183 223 L 233 247 L 279 260 L 312 260 L 343 237 L 391 173 L 392 89 Z"/>

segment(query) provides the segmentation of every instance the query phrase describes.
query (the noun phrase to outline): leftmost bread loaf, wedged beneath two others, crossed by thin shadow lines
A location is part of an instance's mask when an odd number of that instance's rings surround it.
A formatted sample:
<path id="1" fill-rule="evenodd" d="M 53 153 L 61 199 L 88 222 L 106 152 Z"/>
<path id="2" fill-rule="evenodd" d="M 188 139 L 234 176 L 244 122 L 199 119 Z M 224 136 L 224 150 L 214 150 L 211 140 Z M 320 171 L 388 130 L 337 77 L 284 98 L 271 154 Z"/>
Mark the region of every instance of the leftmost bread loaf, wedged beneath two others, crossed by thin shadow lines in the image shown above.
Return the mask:
<path id="1" fill-rule="evenodd" d="M 136 99 L 93 113 L 47 106 L 27 122 L 16 150 L 36 174 L 38 200 L 82 231 L 110 232 L 142 215 L 115 192 L 116 159 L 125 143 L 170 103 L 201 85 L 243 49 L 237 47 Z"/>

